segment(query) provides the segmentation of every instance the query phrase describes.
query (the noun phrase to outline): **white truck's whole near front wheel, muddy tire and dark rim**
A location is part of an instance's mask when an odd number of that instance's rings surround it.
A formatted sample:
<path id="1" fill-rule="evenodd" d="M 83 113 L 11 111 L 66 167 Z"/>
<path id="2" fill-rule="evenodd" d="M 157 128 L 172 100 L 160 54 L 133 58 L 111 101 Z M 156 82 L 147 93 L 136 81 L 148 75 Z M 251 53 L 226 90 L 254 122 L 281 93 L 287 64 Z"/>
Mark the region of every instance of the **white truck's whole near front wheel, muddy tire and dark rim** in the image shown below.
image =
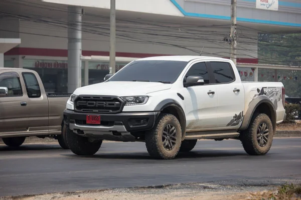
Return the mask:
<path id="1" fill-rule="evenodd" d="M 145 133 L 145 145 L 150 156 L 173 159 L 181 146 L 182 130 L 173 114 L 160 114 L 155 126 Z"/>

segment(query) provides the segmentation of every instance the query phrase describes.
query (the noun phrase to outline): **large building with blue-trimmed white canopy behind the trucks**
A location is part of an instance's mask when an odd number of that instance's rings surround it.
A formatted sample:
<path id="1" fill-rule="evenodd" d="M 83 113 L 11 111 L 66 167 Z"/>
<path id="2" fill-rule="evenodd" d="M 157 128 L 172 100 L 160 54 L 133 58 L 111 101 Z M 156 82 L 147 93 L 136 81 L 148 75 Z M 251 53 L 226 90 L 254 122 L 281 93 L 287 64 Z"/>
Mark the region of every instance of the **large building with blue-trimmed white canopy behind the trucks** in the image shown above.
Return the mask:
<path id="1" fill-rule="evenodd" d="M 70 92 L 70 82 L 83 86 L 103 81 L 109 73 L 110 0 L 26 1 L 0 2 L 0 38 L 21 39 L 4 52 L 4 67 L 36 70 L 47 92 Z M 74 7 L 80 8 L 76 22 L 68 15 Z M 241 78 L 262 80 L 257 65 L 246 66 L 258 63 L 258 32 L 299 31 L 301 3 L 238 0 L 237 25 Z M 80 60 L 70 62 L 75 31 Z M 229 57 L 229 32 L 230 0 L 116 0 L 116 71 L 137 57 L 201 52 Z"/>

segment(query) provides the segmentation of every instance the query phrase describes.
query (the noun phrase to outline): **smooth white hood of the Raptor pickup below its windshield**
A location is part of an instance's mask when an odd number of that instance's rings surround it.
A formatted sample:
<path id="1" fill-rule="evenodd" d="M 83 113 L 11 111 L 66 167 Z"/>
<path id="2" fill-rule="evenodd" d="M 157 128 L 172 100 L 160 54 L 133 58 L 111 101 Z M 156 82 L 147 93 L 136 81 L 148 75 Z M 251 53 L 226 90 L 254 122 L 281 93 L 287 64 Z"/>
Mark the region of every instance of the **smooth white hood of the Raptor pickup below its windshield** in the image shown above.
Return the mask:
<path id="1" fill-rule="evenodd" d="M 79 87 L 73 93 L 75 95 L 132 96 L 146 95 L 150 92 L 170 89 L 171 87 L 172 84 L 161 82 L 108 81 Z"/>

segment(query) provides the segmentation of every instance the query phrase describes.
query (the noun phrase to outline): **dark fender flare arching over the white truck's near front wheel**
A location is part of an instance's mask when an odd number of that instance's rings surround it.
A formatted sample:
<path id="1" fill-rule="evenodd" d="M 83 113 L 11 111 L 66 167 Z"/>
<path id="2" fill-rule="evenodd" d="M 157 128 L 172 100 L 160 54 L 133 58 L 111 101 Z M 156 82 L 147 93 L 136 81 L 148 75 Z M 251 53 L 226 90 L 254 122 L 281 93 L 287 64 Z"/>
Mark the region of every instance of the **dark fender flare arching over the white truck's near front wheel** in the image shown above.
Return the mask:
<path id="1" fill-rule="evenodd" d="M 169 98 L 169 99 L 165 99 L 165 100 L 161 101 L 160 103 L 158 103 L 158 105 L 155 107 L 155 110 L 158 110 L 161 112 L 167 107 L 173 107 L 176 109 L 176 111 L 179 115 L 179 118 L 180 118 L 180 124 L 181 124 L 181 129 L 182 129 L 182 140 L 184 140 L 185 133 L 186 133 L 186 115 L 185 115 L 184 109 L 182 108 L 180 103 L 177 102 L 175 99 Z"/>

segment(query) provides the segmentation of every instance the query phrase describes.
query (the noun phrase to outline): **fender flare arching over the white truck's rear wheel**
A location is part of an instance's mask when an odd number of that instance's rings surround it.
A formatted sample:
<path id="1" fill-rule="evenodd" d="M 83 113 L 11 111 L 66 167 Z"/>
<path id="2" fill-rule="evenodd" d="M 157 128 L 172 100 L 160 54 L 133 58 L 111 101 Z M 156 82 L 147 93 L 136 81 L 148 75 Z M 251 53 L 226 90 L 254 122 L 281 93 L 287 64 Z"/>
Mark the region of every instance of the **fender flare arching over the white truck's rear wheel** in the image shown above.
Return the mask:
<path id="1" fill-rule="evenodd" d="M 272 101 L 269 99 L 269 97 L 267 97 L 265 95 L 258 96 L 253 101 L 251 101 L 251 103 L 249 104 L 249 107 L 244 115 L 242 124 L 238 130 L 245 130 L 248 128 L 256 108 L 259 105 L 261 105 L 262 103 L 265 103 L 269 107 L 269 110 L 271 113 L 271 121 L 273 124 L 273 132 L 275 132 L 275 130 L 276 130 L 276 108 L 275 108 L 274 104 L 272 103 Z"/>

